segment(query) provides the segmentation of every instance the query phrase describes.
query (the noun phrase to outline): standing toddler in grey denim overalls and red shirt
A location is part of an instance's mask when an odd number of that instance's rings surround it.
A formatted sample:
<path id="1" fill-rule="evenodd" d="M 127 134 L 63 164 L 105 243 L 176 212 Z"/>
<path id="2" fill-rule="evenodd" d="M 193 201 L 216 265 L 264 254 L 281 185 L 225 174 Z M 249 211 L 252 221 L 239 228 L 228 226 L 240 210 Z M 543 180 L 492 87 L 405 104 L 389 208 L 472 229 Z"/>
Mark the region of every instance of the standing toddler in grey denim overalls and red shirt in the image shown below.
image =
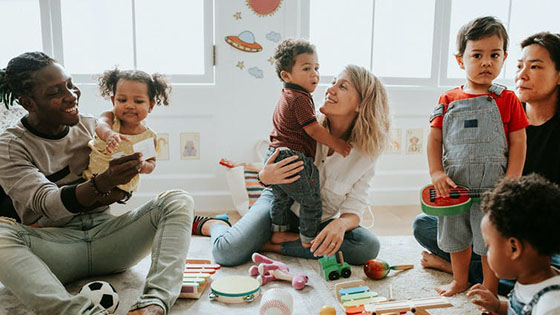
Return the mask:
<path id="1" fill-rule="evenodd" d="M 504 26 L 493 17 L 478 18 L 463 26 L 457 38 L 456 59 L 466 83 L 444 93 L 430 117 L 428 162 L 438 197 L 449 197 L 450 186 L 480 191 L 504 175 L 519 177 L 525 159 L 528 121 L 521 102 L 492 82 L 507 57 Z M 436 289 L 441 295 L 468 288 L 472 251 L 482 256 L 485 286 L 497 291 L 498 279 L 486 262 L 481 219 L 478 202 L 469 211 L 438 217 L 438 246 L 450 253 L 453 270 L 453 281 Z"/>

